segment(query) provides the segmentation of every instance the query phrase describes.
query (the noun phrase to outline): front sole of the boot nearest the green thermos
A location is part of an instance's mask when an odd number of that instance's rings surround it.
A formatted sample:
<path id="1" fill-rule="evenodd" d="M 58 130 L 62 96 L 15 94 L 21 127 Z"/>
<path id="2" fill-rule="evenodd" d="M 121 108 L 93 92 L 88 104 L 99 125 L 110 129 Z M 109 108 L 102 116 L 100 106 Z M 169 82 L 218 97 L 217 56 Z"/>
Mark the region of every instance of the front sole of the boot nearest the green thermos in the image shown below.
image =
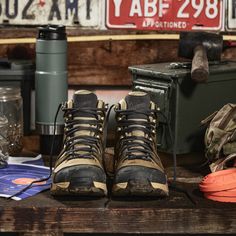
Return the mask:
<path id="1" fill-rule="evenodd" d="M 99 187 L 97 187 L 99 186 Z M 103 197 L 107 195 L 105 183 L 93 182 L 87 186 L 75 186 L 69 182 L 53 183 L 51 186 L 53 196 L 81 196 L 81 197 Z"/>

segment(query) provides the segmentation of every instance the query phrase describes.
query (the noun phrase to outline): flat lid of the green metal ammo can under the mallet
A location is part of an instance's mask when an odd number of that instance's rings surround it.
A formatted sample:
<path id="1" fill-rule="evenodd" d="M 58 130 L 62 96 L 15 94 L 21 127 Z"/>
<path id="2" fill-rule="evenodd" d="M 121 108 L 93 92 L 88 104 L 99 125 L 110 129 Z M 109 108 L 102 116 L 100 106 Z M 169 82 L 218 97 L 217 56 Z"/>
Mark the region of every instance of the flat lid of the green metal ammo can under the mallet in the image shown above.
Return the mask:
<path id="1" fill-rule="evenodd" d="M 168 62 L 130 66 L 129 71 L 132 73 L 132 75 L 152 77 L 153 79 L 157 78 L 163 80 L 182 80 L 186 77 L 191 76 L 191 62 Z M 209 73 L 210 76 L 207 82 L 232 79 L 232 76 L 235 77 L 234 79 L 236 79 L 236 62 L 209 62 Z M 231 76 L 227 76 L 227 74 L 230 73 Z M 133 77 L 133 80 L 135 80 L 135 77 Z"/>

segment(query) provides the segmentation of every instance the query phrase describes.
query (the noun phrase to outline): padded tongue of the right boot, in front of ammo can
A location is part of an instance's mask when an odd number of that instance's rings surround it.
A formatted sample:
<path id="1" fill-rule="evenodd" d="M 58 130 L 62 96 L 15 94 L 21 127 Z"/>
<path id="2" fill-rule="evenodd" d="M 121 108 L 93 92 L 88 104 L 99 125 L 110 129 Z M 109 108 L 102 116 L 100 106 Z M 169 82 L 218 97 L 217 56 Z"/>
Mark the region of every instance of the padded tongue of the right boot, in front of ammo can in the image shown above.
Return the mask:
<path id="1" fill-rule="evenodd" d="M 147 111 L 150 109 L 150 96 L 144 92 L 130 92 L 125 98 L 127 109 L 135 111 Z M 146 119 L 143 114 L 130 114 L 129 119 Z"/>

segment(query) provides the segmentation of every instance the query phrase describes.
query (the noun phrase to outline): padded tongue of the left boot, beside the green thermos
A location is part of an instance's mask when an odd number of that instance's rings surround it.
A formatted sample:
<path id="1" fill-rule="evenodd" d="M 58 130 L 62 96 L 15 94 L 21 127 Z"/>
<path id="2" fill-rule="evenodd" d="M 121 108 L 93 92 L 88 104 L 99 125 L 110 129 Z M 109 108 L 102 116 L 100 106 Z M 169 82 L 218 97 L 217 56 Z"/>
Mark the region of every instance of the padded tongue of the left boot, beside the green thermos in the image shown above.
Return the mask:
<path id="1" fill-rule="evenodd" d="M 73 101 L 74 101 L 74 108 L 83 108 L 89 110 L 89 108 L 97 107 L 98 99 L 96 94 L 90 91 L 79 90 L 74 93 Z M 78 112 L 76 115 L 82 117 L 93 117 L 93 115 L 85 112 Z"/>

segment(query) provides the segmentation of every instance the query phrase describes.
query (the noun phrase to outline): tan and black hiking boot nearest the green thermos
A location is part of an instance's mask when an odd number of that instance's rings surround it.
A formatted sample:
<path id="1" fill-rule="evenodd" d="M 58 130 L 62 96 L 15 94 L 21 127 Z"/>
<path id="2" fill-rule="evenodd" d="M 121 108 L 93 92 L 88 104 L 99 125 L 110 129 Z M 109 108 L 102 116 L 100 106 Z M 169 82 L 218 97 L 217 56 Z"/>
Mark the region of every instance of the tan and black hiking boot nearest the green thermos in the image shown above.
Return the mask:
<path id="1" fill-rule="evenodd" d="M 86 90 L 77 91 L 62 108 L 64 148 L 52 176 L 52 195 L 104 196 L 105 103 Z"/>

